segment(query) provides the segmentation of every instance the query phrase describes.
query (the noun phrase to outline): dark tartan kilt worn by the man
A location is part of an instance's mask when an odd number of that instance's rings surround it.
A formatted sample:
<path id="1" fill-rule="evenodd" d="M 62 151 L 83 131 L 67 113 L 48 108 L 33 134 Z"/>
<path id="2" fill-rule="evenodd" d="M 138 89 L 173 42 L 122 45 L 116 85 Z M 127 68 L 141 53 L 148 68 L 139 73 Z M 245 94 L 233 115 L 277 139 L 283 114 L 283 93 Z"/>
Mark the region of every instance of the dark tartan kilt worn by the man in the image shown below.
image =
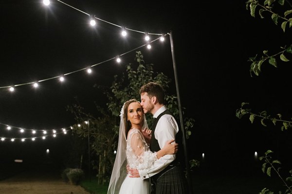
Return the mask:
<path id="1" fill-rule="evenodd" d="M 155 194 L 188 194 L 187 181 L 180 166 L 174 166 L 157 179 Z"/>

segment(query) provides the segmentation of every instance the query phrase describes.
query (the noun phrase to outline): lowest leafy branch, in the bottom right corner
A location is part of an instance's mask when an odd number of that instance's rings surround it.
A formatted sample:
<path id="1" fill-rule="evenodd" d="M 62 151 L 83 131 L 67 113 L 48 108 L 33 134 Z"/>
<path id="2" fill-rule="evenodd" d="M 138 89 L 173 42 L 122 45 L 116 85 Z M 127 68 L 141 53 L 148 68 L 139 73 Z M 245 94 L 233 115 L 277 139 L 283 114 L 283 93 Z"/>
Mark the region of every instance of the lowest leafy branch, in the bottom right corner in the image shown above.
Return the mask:
<path id="1" fill-rule="evenodd" d="M 268 150 L 265 153 L 265 156 L 259 157 L 259 160 L 262 161 L 264 160 L 264 163 L 262 164 L 262 171 L 263 173 L 267 173 L 267 175 L 269 177 L 271 177 L 271 170 L 273 169 L 275 171 L 275 173 L 278 175 L 278 177 L 282 180 L 282 182 L 284 183 L 284 186 L 287 187 L 285 194 L 292 194 L 292 185 L 289 186 L 287 184 L 288 181 L 292 182 L 292 170 L 289 171 L 290 173 L 290 177 L 287 177 L 285 180 L 281 177 L 280 175 L 280 167 L 278 167 L 276 169 L 276 165 L 280 165 L 281 162 L 278 160 L 274 160 L 272 161 L 272 157 L 271 157 L 271 153 L 273 153 L 273 151 Z M 279 194 L 281 194 L 282 192 L 279 191 Z M 264 188 L 263 190 L 261 190 L 261 192 L 259 194 L 274 194 L 274 192 L 269 191 L 269 189 Z"/>

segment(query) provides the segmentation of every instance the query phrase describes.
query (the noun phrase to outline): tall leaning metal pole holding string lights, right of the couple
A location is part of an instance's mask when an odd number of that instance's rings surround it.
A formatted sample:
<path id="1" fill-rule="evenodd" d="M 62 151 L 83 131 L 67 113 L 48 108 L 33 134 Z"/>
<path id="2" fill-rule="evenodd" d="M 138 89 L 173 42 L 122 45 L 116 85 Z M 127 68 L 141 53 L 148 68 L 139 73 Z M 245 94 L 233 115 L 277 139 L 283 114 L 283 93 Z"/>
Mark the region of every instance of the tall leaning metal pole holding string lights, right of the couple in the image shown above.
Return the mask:
<path id="1" fill-rule="evenodd" d="M 177 78 L 177 69 L 176 69 L 176 63 L 175 63 L 175 57 L 174 57 L 174 46 L 173 46 L 173 40 L 172 40 L 172 32 L 169 32 L 169 40 L 170 40 L 170 46 L 171 46 L 171 54 L 172 54 L 172 63 L 173 63 L 173 70 L 174 70 L 174 78 L 175 78 L 175 86 L 176 86 L 176 91 L 178 95 L 178 104 L 179 104 L 179 112 L 180 112 L 180 120 L 181 120 L 181 128 L 182 128 L 182 133 L 183 133 L 183 150 L 184 150 L 184 156 L 185 156 L 185 166 L 186 166 L 186 179 L 187 179 L 187 184 L 188 184 L 188 190 L 189 194 L 192 194 L 192 182 L 191 182 L 191 177 L 190 177 L 190 168 L 189 168 L 189 160 L 187 156 L 187 149 L 186 149 L 186 136 L 185 136 L 185 131 L 184 131 L 184 126 L 183 126 L 183 113 L 182 113 L 182 107 L 181 107 L 181 101 L 180 101 L 180 92 L 179 92 L 179 84 L 178 84 L 178 78 Z"/>

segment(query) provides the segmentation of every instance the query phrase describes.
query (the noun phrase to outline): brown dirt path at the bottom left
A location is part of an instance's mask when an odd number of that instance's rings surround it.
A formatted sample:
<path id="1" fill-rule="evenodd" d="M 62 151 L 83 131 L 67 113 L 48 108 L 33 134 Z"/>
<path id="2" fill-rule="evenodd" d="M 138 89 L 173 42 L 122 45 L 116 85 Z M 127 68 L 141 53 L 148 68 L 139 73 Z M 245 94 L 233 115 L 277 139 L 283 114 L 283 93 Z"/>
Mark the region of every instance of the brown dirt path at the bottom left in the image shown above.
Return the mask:
<path id="1" fill-rule="evenodd" d="M 62 181 L 54 171 L 22 172 L 0 181 L 0 194 L 90 194 L 79 185 Z"/>

